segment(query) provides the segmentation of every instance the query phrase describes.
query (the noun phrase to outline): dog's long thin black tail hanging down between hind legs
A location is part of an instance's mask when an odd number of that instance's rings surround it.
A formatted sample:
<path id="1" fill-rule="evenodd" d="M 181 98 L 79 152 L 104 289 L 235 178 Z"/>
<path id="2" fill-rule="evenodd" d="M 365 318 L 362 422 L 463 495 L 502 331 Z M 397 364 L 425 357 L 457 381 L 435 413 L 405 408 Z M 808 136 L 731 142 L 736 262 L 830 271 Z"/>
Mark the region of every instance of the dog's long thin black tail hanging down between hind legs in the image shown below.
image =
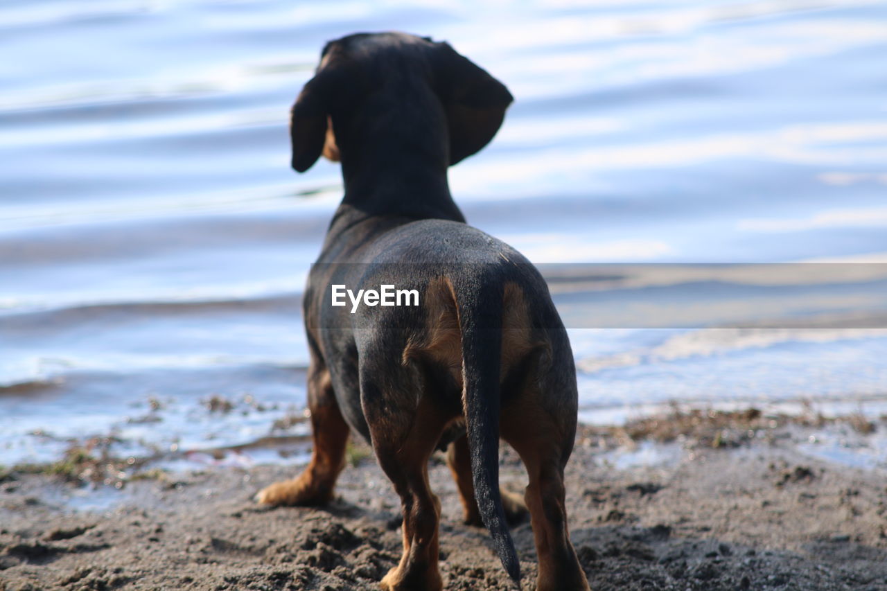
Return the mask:
<path id="1" fill-rule="evenodd" d="M 521 564 L 508 532 L 498 487 L 499 371 L 502 362 L 502 294 L 485 281 L 464 279 L 455 288 L 462 334 L 462 407 L 475 499 L 483 524 L 508 576 L 521 587 Z M 486 292 L 486 293 L 483 293 Z"/>

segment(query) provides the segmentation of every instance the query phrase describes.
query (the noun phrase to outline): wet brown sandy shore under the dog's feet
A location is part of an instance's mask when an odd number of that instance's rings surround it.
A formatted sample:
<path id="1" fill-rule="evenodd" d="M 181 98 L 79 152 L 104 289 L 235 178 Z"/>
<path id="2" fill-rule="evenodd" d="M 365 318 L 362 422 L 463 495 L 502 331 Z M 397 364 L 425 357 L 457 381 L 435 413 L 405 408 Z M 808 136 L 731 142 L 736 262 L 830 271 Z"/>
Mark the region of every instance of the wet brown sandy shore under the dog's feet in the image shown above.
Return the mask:
<path id="1" fill-rule="evenodd" d="M 568 508 L 594 589 L 887 589 L 887 475 L 813 460 L 800 444 L 815 437 L 814 426 L 746 426 L 719 425 L 714 437 L 648 431 L 643 437 L 677 438 L 647 443 L 634 434 L 629 448 L 619 443 L 625 429 L 580 429 Z M 657 459 L 637 466 L 625 461 L 632 453 L 613 452 L 632 445 Z M 251 502 L 293 471 L 211 469 L 120 491 L 7 472 L 0 589 L 377 588 L 399 557 L 400 535 L 396 497 L 373 458 L 345 470 L 327 508 Z M 523 478 L 504 449 L 503 483 L 521 490 Z M 486 532 L 461 524 L 442 458 L 431 480 L 443 503 L 447 588 L 509 588 Z M 529 524 L 513 535 L 523 588 L 533 588 Z"/>

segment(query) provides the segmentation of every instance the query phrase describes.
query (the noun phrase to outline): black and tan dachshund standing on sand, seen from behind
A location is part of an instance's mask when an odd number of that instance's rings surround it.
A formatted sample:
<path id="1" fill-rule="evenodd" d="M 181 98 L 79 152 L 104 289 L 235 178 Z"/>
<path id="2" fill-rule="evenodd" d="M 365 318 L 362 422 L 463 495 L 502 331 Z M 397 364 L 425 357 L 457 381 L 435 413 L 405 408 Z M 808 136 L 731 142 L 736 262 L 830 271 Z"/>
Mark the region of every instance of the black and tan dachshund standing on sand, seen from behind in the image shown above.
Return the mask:
<path id="1" fill-rule="evenodd" d="M 293 168 L 324 154 L 341 162 L 345 191 L 303 302 L 310 464 L 256 497 L 326 503 L 349 433 L 365 437 L 403 504 L 404 553 L 383 589 L 443 587 L 428 485 L 438 447 L 465 521 L 486 526 L 518 587 L 507 517 L 529 509 L 538 590 L 589 588 L 564 505 L 577 425 L 569 339 L 536 268 L 467 225 L 447 185 L 448 167 L 490 142 L 512 100 L 448 43 L 361 33 L 326 43 L 292 109 Z M 380 286 L 414 291 L 418 305 L 334 305 L 334 289 L 353 299 Z M 523 501 L 499 489 L 500 437 L 527 469 Z"/>

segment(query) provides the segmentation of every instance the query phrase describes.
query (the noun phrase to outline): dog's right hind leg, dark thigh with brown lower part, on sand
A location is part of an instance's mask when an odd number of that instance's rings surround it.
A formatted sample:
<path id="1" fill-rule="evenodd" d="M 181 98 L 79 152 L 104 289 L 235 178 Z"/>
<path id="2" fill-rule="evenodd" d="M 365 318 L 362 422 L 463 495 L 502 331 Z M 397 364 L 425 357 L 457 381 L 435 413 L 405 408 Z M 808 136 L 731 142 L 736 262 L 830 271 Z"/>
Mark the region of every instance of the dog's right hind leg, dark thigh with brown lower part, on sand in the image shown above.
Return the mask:
<path id="1" fill-rule="evenodd" d="M 503 409 L 502 437 L 520 454 L 530 484 L 524 499 L 538 555 L 537 591 L 588 591 L 569 541 L 563 470 L 573 450 L 576 411 L 545 399 L 535 384 Z"/>

